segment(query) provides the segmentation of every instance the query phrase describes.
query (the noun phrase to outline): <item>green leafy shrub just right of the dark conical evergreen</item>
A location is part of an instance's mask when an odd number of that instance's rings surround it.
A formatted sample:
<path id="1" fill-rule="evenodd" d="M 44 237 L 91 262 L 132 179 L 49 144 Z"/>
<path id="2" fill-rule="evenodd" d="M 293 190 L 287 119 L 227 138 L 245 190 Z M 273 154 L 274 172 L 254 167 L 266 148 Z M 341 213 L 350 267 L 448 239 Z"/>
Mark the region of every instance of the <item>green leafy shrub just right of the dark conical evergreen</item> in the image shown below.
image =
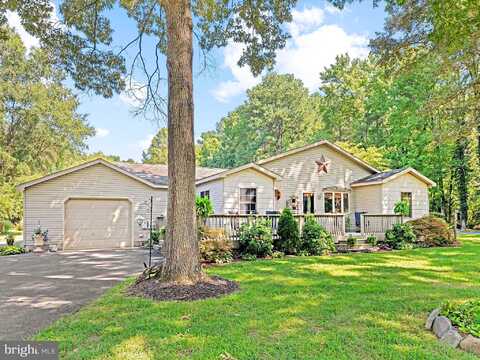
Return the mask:
<path id="1" fill-rule="evenodd" d="M 310 255 L 323 255 L 335 250 L 332 235 L 313 216 L 308 216 L 303 225 L 302 250 Z"/>

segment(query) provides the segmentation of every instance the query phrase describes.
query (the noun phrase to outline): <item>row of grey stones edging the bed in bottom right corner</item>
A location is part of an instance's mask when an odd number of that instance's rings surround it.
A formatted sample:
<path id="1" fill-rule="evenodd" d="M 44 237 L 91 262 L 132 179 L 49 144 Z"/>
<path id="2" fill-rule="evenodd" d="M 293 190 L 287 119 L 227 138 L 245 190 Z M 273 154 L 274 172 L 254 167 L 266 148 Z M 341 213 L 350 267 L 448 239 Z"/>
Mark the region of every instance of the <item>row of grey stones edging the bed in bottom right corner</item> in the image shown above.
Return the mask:
<path id="1" fill-rule="evenodd" d="M 440 315 L 440 308 L 433 310 L 428 315 L 425 328 L 433 331 L 441 342 L 480 356 L 480 338 L 459 332 L 452 326 L 449 318 Z"/>

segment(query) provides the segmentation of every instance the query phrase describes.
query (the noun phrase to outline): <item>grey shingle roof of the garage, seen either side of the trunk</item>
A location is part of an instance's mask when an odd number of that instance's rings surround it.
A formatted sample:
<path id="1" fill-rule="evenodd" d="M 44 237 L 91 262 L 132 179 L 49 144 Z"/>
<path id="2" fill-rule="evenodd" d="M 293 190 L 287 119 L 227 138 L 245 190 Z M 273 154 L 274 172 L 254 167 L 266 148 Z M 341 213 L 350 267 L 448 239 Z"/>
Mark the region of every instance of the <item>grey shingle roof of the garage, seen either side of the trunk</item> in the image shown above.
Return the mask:
<path id="1" fill-rule="evenodd" d="M 115 163 L 118 167 L 122 168 L 129 173 L 151 182 L 155 185 L 168 185 L 168 166 L 159 165 L 159 164 L 135 164 L 135 163 L 125 163 L 117 162 Z M 216 168 L 196 168 L 196 180 L 202 179 L 207 176 L 218 174 L 225 169 L 216 169 Z"/>

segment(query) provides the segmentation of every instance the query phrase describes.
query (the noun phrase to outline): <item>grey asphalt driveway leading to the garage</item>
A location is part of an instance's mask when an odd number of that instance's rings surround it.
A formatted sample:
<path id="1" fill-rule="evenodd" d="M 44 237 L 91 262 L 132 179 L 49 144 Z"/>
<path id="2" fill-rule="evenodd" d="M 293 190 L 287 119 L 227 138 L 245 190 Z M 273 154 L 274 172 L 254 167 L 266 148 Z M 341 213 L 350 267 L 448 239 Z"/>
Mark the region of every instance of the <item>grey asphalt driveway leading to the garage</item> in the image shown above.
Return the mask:
<path id="1" fill-rule="evenodd" d="M 140 273 L 147 259 L 140 249 L 0 257 L 0 339 L 29 338 Z"/>

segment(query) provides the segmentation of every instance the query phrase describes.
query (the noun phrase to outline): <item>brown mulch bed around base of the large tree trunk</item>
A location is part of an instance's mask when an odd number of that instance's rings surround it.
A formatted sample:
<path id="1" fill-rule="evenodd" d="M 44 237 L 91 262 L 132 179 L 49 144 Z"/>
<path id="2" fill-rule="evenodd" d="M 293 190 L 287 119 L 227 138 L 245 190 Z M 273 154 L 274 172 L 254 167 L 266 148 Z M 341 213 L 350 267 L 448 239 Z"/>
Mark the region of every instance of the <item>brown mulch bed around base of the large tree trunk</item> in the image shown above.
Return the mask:
<path id="1" fill-rule="evenodd" d="M 152 278 L 135 283 L 127 289 L 126 293 L 157 301 L 193 301 L 220 297 L 231 294 L 238 289 L 239 286 L 236 282 L 219 276 L 205 277 L 205 279 L 193 285 L 166 283 Z"/>

